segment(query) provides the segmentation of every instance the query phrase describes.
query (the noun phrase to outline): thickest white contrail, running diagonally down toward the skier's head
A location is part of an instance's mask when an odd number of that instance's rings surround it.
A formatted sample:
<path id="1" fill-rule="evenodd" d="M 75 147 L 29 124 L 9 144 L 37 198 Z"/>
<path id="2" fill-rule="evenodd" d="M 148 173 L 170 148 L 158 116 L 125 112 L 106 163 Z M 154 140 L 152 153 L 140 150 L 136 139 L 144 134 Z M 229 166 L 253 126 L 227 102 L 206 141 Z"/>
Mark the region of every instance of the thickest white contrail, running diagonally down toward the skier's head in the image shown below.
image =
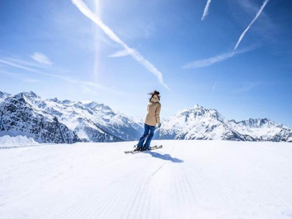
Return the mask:
<path id="1" fill-rule="evenodd" d="M 127 44 L 125 44 L 112 31 L 112 29 L 110 29 L 107 25 L 105 25 L 105 23 L 103 23 L 102 20 L 100 20 L 98 16 L 87 7 L 87 5 L 82 0 L 71 0 L 71 1 L 81 11 L 81 13 L 83 13 L 86 17 L 88 17 L 90 20 L 95 22 L 103 30 L 103 32 L 107 34 L 107 36 L 109 36 L 110 39 L 112 39 L 113 41 L 123 46 L 125 50 L 127 50 L 128 53 L 132 56 L 133 59 L 135 59 L 137 62 L 140 62 L 141 65 L 143 65 L 149 72 L 151 72 L 157 77 L 160 84 L 162 84 L 165 88 L 170 90 L 169 87 L 163 82 L 162 73 L 151 62 L 149 62 L 140 53 L 138 53 L 134 49 L 130 48 Z"/>

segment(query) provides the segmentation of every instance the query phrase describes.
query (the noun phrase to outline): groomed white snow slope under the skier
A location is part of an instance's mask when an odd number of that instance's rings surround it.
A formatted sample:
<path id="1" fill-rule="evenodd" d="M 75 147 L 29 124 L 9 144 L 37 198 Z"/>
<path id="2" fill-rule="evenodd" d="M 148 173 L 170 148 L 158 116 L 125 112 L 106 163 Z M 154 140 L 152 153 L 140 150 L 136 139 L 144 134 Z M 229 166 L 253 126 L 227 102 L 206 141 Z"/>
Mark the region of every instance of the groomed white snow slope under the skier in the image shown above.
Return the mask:
<path id="1" fill-rule="evenodd" d="M 0 150 L 0 218 L 291 218 L 284 142 L 161 140 Z"/>

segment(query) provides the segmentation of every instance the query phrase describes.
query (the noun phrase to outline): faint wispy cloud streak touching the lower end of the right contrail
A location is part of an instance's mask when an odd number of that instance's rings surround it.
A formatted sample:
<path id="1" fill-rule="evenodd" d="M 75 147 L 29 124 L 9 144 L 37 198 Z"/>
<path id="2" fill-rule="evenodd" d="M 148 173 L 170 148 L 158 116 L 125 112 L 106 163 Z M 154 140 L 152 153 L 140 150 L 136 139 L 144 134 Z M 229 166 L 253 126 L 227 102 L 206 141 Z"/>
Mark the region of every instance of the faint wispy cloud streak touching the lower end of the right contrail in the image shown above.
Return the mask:
<path id="1" fill-rule="evenodd" d="M 253 50 L 254 48 L 255 48 L 255 46 L 250 46 L 250 47 L 247 47 L 247 48 L 235 51 L 235 52 L 232 51 L 232 52 L 216 55 L 216 56 L 211 57 L 211 58 L 196 60 L 196 61 L 189 62 L 189 63 L 183 65 L 183 68 L 202 68 L 202 67 L 206 67 L 206 66 L 209 66 L 209 65 L 213 65 L 216 62 L 221 62 L 221 61 L 223 61 L 225 59 L 232 58 L 234 55 L 238 55 L 238 54 L 241 54 L 241 53 L 246 53 L 248 51 Z"/>

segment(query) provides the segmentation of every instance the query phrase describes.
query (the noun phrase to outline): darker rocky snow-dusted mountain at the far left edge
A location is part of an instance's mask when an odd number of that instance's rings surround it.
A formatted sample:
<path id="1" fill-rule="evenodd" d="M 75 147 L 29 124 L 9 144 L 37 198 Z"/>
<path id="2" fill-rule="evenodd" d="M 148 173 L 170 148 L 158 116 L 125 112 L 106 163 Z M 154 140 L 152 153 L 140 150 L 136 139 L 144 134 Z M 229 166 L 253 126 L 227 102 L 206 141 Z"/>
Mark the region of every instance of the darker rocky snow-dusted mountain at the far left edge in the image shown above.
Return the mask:
<path id="1" fill-rule="evenodd" d="M 74 143 L 78 136 L 56 117 L 34 107 L 32 100 L 38 98 L 34 93 L 20 93 L 7 97 L 0 103 L 4 113 L 1 136 L 27 136 L 37 142 Z"/>

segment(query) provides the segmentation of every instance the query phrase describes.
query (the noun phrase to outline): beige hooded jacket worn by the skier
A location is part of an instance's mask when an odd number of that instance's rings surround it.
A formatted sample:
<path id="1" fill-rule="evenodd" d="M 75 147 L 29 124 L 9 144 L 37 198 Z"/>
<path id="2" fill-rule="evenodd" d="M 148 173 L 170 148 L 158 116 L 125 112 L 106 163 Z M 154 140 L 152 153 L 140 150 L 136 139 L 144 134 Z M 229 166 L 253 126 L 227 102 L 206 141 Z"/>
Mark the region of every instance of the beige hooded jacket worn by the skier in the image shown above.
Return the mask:
<path id="1" fill-rule="evenodd" d="M 157 95 L 154 95 L 147 105 L 147 115 L 145 124 L 149 126 L 156 126 L 156 123 L 160 124 L 160 110 L 161 104 Z"/>

